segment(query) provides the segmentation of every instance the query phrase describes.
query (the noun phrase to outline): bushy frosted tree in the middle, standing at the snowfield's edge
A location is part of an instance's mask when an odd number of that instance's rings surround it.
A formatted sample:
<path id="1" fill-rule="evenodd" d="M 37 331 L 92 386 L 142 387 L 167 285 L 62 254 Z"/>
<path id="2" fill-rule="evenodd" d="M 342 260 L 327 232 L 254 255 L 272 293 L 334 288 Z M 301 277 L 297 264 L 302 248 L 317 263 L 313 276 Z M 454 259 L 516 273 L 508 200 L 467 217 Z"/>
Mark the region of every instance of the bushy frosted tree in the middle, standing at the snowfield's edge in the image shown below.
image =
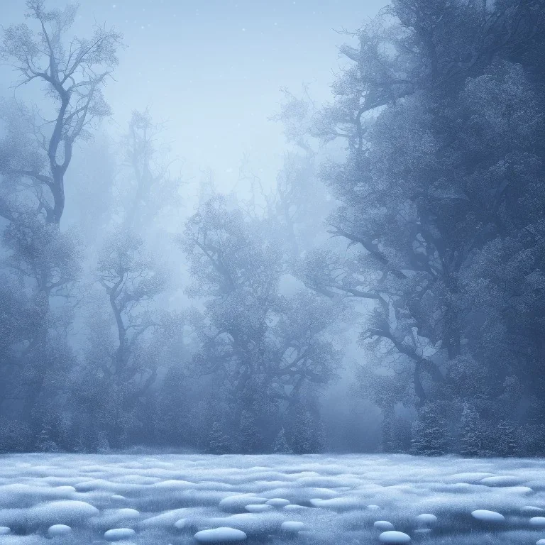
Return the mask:
<path id="1" fill-rule="evenodd" d="M 232 448 L 270 451 L 284 427 L 290 448 L 307 453 L 321 444 L 314 390 L 338 366 L 327 335 L 337 312 L 309 290 L 282 294 L 290 254 L 273 229 L 269 219 L 246 219 L 221 196 L 189 219 L 182 240 L 195 280 L 189 292 L 204 297 L 204 312 L 192 316 L 202 343 L 193 366 L 222 385 L 218 434 L 231 438 Z"/>

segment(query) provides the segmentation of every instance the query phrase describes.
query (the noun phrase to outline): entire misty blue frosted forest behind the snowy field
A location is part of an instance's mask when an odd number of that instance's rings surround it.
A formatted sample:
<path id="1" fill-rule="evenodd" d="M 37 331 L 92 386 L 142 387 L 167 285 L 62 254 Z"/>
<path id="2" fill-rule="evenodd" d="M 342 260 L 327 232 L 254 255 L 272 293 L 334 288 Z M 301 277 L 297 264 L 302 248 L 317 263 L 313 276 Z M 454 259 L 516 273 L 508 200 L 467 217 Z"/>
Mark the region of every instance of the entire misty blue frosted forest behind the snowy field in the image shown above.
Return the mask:
<path id="1" fill-rule="evenodd" d="M 112 129 L 126 45 L 77 13 L 1 30 L 0 453 L 545 456 L 543 1 L 346 21 L 238 191 Z"/>

